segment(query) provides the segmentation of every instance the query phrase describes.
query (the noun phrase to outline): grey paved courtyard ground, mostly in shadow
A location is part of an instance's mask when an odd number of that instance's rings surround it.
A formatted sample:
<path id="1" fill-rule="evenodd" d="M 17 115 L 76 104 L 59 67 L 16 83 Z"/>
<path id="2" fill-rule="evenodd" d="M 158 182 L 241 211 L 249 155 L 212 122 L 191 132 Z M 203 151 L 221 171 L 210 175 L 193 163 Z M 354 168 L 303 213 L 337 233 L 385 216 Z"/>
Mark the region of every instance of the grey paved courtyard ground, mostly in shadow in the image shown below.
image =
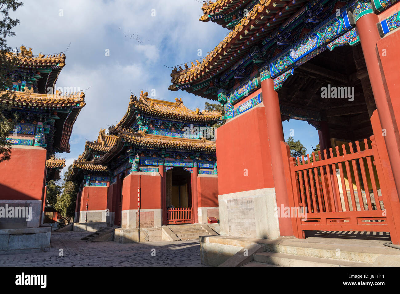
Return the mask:
<path id="1" fill-rule="evenodd" d="M 1 254 L 0 266 L 204 266 L 198 240 L 130 244 L 80 240 L 86 235 L 88 232 L 53 232 L 51 248 Z M 60 249 L 64 256 L 59 256 Z"/>

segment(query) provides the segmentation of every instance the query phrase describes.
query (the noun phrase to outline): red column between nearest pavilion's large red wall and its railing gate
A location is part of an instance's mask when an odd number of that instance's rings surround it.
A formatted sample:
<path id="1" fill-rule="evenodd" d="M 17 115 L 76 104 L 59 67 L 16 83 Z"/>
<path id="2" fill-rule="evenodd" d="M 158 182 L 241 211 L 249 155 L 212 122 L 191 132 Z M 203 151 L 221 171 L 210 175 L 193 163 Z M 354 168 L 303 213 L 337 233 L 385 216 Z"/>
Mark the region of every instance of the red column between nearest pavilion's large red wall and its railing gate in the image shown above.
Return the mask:
<path id="1" fill-rule="evenodd" d="M 286 175 L 281 151 L 281 143 L 285 141 L 282 127 L 282 117 L 278 93 L 274 90 L 274 80 L 270 78 L 268 68 L 260 70 L 262 99 L 265 105 L 267 118 L 268 141 L 271 152 L 272 174 L 277 207 L 290 207 L 288 192 L 286 190 Z M 262 134 L 260 134 L 262 135 Z M 287 175 L 290 178 L 290 175 Z M 291 195 L 292 197 L 292 195 Z M 279 218 L 281 236 L 293 236 L 292 221 L 290 218 Z"/>

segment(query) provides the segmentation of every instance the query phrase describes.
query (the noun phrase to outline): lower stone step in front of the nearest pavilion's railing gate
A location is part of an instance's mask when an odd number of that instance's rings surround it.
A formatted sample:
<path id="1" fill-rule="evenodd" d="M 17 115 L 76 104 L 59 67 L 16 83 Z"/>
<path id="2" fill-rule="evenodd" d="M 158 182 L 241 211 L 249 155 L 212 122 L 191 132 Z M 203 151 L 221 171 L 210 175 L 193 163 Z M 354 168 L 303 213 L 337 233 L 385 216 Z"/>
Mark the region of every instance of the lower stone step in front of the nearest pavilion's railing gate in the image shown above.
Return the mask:
<path id="1" fill-rule="evenodd" d="M 291 255 L 276 252 L 260 252 L 253 254 L 255 262 L 279 266 L 371 266 L 362 262 L 333 260 L 311 256 Z"/>

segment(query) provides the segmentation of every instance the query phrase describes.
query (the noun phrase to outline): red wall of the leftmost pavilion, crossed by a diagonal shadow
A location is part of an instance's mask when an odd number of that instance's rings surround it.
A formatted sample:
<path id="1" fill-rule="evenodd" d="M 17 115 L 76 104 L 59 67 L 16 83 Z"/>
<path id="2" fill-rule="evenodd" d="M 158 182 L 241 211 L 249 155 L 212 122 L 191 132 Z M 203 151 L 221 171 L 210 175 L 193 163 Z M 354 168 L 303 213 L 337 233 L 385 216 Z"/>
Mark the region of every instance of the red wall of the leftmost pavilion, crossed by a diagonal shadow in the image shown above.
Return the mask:
<path id="1" fill-rule="evenodd" d="M 41 200 L 46 173 L 46 149 L 12 148 L 0 163 L 0 199 Z"/>

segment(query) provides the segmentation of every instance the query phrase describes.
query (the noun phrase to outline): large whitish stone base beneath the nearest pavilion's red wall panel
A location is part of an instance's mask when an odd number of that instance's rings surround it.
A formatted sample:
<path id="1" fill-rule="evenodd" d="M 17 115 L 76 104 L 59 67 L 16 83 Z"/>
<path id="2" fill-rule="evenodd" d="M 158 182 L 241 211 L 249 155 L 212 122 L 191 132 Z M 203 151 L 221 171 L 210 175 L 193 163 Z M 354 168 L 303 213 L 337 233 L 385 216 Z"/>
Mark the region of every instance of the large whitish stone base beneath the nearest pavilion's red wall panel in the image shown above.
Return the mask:
<path id="1" fill-rule="evenodd" d="M 280 236 L 274 188 L 218 195 L 218 204 L 222 236 Z"/>

